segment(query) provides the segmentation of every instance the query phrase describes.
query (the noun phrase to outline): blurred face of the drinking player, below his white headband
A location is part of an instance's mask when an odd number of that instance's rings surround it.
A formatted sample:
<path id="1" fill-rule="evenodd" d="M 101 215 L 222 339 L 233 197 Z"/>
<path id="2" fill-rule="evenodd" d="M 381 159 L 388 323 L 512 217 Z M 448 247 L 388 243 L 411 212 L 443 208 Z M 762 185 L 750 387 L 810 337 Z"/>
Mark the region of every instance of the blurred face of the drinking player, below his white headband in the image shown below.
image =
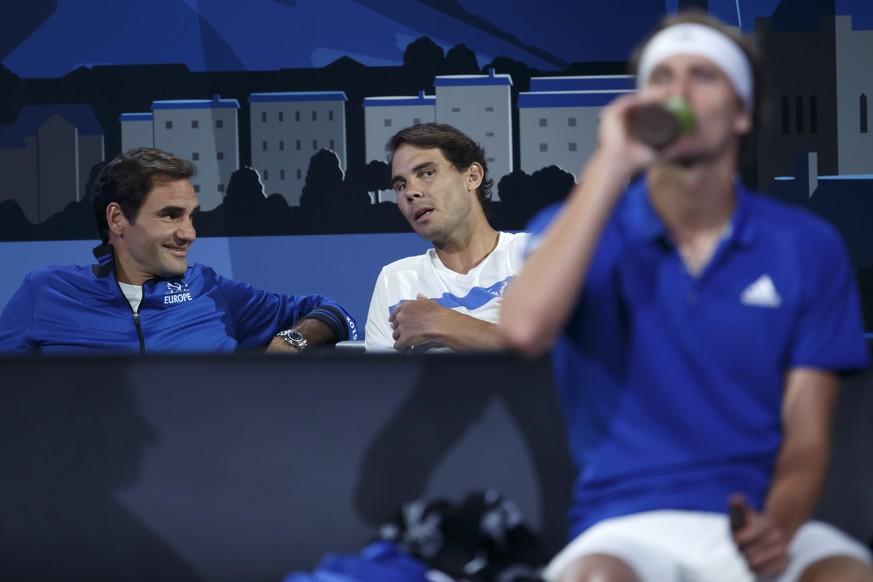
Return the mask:
<path id="1" fill-rule="evenodd" d="M 739 137 L 752 129 L 733 85 L 712 61 L 696 55 L 676 55 L 658 63 L 643 88 L 657 101 L 684 98 L 694 111 L 695 128 L 663 151 L 668 162 L 692 164 L 736 156 Z"/>

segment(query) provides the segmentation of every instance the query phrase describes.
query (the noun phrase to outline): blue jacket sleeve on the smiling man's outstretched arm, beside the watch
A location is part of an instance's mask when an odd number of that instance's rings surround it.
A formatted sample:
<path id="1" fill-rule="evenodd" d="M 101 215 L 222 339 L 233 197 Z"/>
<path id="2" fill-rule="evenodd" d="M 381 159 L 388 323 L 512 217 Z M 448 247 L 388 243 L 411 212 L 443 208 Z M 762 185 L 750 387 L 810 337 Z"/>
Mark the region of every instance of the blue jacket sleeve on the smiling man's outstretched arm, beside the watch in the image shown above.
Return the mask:
<path id="1" fill-rule="evenodd" d="M 337 341 L 358 339 L 358 325 L 352 315 L 323 295 L 282 295 L 214 272 L 212 276 L 227 302 L 241 348 L 265 346 L 276 332 L 309 318 L 327 325 Z"/>

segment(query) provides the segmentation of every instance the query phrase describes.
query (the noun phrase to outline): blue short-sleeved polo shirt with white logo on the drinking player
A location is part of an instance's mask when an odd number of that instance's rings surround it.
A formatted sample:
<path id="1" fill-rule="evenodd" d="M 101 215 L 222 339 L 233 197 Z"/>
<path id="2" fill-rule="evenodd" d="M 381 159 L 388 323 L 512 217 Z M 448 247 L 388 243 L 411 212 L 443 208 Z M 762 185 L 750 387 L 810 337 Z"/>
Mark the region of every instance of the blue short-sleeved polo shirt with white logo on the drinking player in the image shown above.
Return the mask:
<path id="1" fill-rule="evenodd" d="M 533 245 L 559 207 L 533 223 Z M 785 373 L 863 368 L 860 303 L 822 219 L 736 186 L 712 260 L 690 275 L 645 179 L 607 222 L 553 349 L 579 470 L 571 534 L 656 509 L 760 507 L 781 442 Z"/>

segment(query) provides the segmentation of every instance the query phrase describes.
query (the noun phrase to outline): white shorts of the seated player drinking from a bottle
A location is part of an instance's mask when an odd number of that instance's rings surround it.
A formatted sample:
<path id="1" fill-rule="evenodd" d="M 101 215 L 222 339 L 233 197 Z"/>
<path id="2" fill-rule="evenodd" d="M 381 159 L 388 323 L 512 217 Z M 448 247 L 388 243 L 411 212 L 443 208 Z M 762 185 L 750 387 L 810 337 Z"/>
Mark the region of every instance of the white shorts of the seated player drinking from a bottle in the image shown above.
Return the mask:
<path id="1" fill-rule="evenodd" d="M 727 515 L 693 511 L 649 511 L 602 521 L 583 532 L 549 562 L 547 582 L 586 554 L 620 558 L 644 582 L 753 582 L 755 575 L 730 536 Z M 797 580 L 812 563 L 851 556 L 871 563 L 860 542 L 820 521 L 804 524 L 788 547 L 789 566 L 768 582 Z"/>

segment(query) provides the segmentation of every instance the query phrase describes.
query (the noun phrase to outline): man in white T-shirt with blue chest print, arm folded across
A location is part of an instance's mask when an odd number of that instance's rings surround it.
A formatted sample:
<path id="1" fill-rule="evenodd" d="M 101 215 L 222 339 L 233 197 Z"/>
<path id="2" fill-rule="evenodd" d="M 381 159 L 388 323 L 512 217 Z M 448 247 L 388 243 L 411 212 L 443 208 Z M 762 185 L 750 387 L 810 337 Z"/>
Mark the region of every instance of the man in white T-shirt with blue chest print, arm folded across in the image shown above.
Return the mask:
<path id="1" fill-rule="evenodd" d="M 497 232 L 485 210 L 493 181 L 484 150 L 452 126 L 426 123 L 390 142 L 397 206 L 433 248 L 382 269 L 370 302 L 367 351 L 489 350 L 503 290 L 527 235 Z"/>

